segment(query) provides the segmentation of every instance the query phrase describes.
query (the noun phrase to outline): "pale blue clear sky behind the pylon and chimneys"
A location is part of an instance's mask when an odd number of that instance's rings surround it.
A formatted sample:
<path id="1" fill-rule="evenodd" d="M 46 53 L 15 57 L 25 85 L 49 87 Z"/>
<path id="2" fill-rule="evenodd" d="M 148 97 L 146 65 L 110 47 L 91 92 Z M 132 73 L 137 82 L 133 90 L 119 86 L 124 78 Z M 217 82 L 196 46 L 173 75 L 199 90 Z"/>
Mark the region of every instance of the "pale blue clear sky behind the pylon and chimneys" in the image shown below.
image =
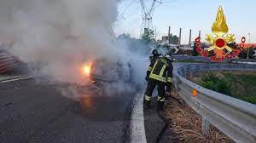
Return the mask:
<path id="1" fill-rule="evenodd" d="M 119 16 L 114 30 L 117 35 L 129 33 L 132 37 L 139 37 L 142 23 L 140 0 L 123 0 L 119 3 Z M 153 0 L 144 0 L 152 3 Z M 189 42 L 189 29 L 192 38 L 198 35 L 205 37 L 212 33 L 212 24 L 216 19 L 218 6 L 224 8 L 224 14 L 229 33 L 236 35 L 236 42 L 241 37 L 251 33 L 251 43 L 256 43 L 256 0 L 162 0 L 163 4 L 156 7 L 153 25 L 156 36 L 167 35 L 168 26 L 172 26 L 172 33 L 178 35 L 179 28 L 183 28 L 182 43 Z M 166 3 L 165 3 L 166 2 Z M 157 4 L 158 5 L 158 4 Z"/>

